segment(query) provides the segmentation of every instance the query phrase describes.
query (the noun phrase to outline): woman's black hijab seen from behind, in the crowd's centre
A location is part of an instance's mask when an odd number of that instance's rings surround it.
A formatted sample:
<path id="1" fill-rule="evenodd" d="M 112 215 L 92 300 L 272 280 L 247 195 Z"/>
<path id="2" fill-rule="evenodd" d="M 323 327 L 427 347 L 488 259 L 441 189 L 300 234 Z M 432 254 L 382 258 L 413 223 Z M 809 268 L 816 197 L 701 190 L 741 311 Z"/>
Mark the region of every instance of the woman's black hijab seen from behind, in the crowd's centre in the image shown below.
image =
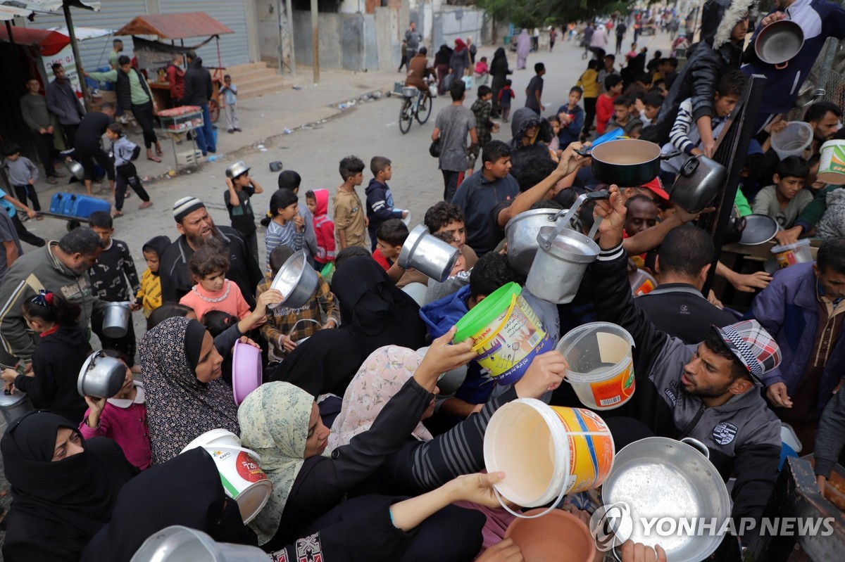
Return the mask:
<path id="1" fill-rule="evenodd" d="M 425 345 L 419 305 L 396 288 L 373 258 L 352 257 L 341 263 L 331 292 L 341 305 L 341 330 L 352 332 L 363 357 L 385 345 Z"/>

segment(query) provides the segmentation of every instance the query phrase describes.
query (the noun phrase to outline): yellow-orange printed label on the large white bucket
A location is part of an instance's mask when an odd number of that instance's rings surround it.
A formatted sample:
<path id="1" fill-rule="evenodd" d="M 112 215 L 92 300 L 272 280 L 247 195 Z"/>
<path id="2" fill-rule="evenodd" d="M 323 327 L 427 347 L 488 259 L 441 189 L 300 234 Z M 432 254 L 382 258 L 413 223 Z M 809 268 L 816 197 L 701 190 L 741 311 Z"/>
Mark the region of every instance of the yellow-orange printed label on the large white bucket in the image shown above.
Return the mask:
<path id="1" fill-rule="evenodd" d="M 613 437 L 597 413 L 583 408 L 552 406 L 569 434 L 567 493 L 600 486 L 613 467 Z"/>

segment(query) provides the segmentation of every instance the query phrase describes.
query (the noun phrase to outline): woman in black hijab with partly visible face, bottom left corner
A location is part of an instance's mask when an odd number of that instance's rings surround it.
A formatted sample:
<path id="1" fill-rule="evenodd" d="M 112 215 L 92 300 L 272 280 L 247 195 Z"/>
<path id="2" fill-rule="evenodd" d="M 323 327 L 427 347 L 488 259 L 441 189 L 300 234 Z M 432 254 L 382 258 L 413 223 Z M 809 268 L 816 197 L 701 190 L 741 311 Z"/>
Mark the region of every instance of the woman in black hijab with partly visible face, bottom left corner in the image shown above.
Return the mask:
<path id="1" fill-rule="evenodd" d="M 86 441 L 74 424 L 44 411 L 9 425 L 0 451 L 12 486 L 6 562 L 79 560 L 111 519 L 117 492 L 138 473 L 114 441 Z"/>

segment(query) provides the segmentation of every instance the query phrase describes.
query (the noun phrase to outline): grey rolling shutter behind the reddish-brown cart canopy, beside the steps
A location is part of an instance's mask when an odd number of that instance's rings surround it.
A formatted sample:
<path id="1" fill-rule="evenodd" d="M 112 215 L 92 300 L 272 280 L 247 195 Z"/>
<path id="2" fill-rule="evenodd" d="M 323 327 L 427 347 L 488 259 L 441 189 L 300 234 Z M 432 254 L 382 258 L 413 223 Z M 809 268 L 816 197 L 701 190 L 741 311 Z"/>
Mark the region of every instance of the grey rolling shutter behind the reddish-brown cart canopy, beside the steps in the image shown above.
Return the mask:
<path id="1" fill-rule="evenodd" d="M 247 32 L 247 8 L 245 2 L 204 2 L 198 0 L 159 0 L 161 14 L 180 14 L 187 12 L 205 12 L 212 18 L 226 25 L 235 33 L 220 36 L 220 55 L 222 65 L 231 67 L 249 62 L 249 35 Z M 202 38 L 204 39 L 204 38 Z M 188 45 L 194 40 L 185 40 Z M 199 41 L 197 41 L 199 42 Z M 217 48 L 215 41 L 197 51 L 205 67 L 217 66 Z"/>

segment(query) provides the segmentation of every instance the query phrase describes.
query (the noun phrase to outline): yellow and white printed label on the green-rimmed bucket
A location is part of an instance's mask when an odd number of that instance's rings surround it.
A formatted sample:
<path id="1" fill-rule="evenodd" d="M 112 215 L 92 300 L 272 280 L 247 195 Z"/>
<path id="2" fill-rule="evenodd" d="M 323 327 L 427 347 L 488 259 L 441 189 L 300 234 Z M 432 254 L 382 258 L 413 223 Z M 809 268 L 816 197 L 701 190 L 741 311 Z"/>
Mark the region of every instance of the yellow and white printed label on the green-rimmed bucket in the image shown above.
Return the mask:
<path id="1" fill-rule="evenodd" d="M 510 316 L 505 310 L 490 322 L 488 328 L 472 337 L 477 343 L 487 338 L 493 327 L 501 326 L 499 332 L 481 349 L 478 349 L 476 361 L 482 369 L 488 370 L 493 380 L 499 384 L 518 381 L 525 374 L 528 365 L 538 354 L 553 348 L 553 342 L 531 306 L 521 296 L 516 297 L 516 304 Z"/>

